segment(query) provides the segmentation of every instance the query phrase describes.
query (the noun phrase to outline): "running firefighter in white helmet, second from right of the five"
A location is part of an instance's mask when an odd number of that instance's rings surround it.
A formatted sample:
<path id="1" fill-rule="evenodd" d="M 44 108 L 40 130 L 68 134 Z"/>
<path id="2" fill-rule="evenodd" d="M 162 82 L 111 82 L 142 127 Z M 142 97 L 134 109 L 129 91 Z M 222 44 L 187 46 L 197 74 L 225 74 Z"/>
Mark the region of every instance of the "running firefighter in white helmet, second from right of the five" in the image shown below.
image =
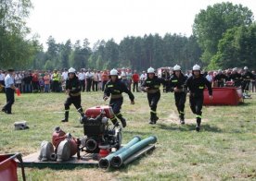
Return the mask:
<path id="1" fill-rule="evenodd" d="M 170 86 L 171 91 L 174 91 L 175 105 L 182 125 L 185 124 L 186 79 L 187 77 L 181 72 L 181 66 L 173 66 L 173 76 L 170 79 Z"/>

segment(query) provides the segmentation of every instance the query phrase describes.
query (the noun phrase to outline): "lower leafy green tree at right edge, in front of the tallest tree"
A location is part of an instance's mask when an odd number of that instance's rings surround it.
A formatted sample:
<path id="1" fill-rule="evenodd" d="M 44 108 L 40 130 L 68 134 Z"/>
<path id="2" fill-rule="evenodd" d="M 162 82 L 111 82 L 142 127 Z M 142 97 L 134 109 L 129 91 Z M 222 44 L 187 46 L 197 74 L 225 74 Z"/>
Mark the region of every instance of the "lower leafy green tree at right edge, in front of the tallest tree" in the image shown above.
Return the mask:
<path id="1" fill-rule="evenodd" d="M 219 42 L 218 53 L 213 56 L 211 66 L 256 68 L 256 24 L 227 30 Z"/>

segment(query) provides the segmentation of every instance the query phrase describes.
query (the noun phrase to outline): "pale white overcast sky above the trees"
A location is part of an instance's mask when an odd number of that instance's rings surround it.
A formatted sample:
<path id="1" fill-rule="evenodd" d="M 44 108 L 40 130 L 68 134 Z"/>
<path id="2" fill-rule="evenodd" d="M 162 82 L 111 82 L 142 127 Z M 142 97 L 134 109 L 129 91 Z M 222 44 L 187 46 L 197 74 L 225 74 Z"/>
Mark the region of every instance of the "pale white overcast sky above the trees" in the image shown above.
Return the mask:
<path id="1" fill-rule="evenodd" d="M 145 34 L 192 34 L 192 25 L 200 9 L 221 0 L 32 0 L 27 19 L 32 34 L 45 42 L 51 35 L 57 42 L 74 43 L 87 38 L 90 46 L 97 40 Z M 229 0 L 248 6 L 256 15 L 255 0 Z"/>

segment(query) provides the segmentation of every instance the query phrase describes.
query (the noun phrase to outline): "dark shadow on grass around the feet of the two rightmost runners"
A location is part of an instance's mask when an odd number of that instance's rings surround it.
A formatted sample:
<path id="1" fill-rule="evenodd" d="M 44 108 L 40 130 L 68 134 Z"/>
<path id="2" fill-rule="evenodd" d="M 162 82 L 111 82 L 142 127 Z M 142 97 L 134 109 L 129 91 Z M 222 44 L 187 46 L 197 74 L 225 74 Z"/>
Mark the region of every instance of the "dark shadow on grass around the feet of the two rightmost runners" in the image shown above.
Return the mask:
<path id="1" fill-rule="evenodd" d="M 165 124 L 158 124 L 160 126 L 160 129 L 165 130 L 180 130 L 180 131 L 192 131 L 195 130 L 196 125 L 184 125 L 177 127 L 177 125 L 172 124 L 171 126 L 165 125 Z M 202 124 L 201 125 L 201 131 L 208 131 L 208 132 L 215 132 L 215 133 L 221 133 L 223 132 L 222 129 L 219 127 L 213 127 L 208 124 Z"/>

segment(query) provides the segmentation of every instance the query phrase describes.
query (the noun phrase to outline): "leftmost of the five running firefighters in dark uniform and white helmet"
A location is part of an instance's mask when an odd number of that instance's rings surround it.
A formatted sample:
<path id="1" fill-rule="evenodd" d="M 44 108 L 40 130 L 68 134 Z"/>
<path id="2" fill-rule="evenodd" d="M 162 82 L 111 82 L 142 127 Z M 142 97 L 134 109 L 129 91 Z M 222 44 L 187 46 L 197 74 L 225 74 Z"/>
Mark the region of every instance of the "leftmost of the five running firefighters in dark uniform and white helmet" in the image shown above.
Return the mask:
<path id="1" fill-rule="evenodd" d="M 66 102 L 64 103 L 65 106 L 65 118 L 62 119 L 62 122 L 69 121 L 69 112 L 70 112 L 70 105 L 73 103 L 77 111 L 83 115 L 83 108 L 81 106 L 81 85 L 79 79 L 75 75 L 75 69 L 70 67 L 68 72 L 69 78 L 66 80 L 66 93 L 69 94 Z"/>

